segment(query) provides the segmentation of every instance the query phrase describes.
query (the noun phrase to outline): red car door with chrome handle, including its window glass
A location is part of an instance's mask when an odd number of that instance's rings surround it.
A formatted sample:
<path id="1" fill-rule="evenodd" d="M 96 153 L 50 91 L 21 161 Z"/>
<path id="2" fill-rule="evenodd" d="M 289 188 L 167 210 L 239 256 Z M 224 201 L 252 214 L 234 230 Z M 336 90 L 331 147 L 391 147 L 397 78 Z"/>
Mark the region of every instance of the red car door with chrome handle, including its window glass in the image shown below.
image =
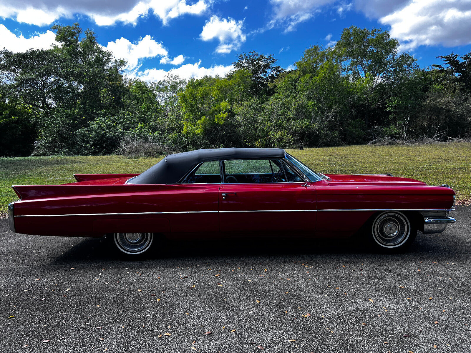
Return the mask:
<path id="1" fill-rule="evenodd" d="M 221 164 L 222 232 L 314 233 L 316 189 L 311 183 L 306 186 L 299 176 L 290 177 L 286 164 L 280 160 L 226 160 Z"/>

